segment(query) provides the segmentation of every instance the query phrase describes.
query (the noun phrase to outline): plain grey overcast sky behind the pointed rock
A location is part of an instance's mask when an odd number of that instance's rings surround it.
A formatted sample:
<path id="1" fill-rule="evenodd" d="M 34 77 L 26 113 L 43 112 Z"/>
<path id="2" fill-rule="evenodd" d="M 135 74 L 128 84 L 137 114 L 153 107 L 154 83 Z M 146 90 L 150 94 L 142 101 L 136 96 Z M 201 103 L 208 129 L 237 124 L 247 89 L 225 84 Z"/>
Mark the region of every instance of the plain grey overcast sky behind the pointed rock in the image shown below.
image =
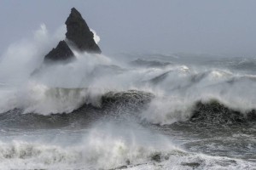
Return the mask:
<path id="1" fill-rule="evenodd" d="M 42 23 L 55 31 L 72 7 L 101 37 L 103 53 L 256 56 L 255 0 L 1 0 L 0 50 Z"/>

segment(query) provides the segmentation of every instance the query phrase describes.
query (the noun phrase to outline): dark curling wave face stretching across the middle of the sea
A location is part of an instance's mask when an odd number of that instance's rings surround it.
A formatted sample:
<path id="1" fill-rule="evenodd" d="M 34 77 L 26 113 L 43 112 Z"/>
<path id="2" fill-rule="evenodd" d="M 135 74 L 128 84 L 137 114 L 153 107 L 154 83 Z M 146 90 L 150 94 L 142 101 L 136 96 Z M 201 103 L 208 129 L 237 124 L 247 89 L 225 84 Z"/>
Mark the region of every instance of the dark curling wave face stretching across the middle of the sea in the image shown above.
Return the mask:
<path id="1" fill-rule="evenodd" d="M 58 91 L 61 89 L 57 89 Z M 63 89 L 68 91 L 67 89 Z M 70 98 L 71 94 L 79 94 L 78 92 L 62 93 Z M 58 92 L 59 93 L 59 92 Z M 58 94 L 60 95 L 60 94 Z M 196 122 L 206 124 L 222 124 L 232 125 L 256 122 L 256 111 L 238 111 L 234 110 L 216 99 L 207 102 L 197 101 L 193 105 L 183 105 L 182 103 L 166 104 L 161 100 L 155 100 L 154 95 L 129 90 L 126 92 L 108 92 L 98 97 L 97 101 L 92 104 L 90 102 L 80 104 L 77 109 L 71 113 L 51 113 L 40 115 L 37 112 L 26 112 L 27 110 L 15 109 L 7 111 L 0 115 L 1 126 L 3 127 L 68 127 L 73 123 L 79 126 L 87 126 L 88 123 L 108 116 L 119 117 L 120 119 L 132 119 L 137 122 L 148 122 L 153 124 L 172 124 L 174 122 Z M 86 100 L 84 98 L 84 100 Z M 172 107 L 175 107 L 173 110 Z M 170 109 L 171 108 L 171 109 Z M 165 109 L 166 113 L 159 112 Z M 179 110 L 178 110 L 179 109 Z"/>

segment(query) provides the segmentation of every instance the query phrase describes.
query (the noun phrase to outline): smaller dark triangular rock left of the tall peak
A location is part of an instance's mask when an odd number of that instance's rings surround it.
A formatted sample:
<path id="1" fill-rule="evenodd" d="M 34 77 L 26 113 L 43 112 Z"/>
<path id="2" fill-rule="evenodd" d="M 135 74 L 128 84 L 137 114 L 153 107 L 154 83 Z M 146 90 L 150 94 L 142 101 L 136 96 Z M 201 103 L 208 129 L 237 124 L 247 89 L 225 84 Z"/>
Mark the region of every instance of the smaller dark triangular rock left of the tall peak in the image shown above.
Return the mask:
<path id="1" fill-rule="evenodd" d="M 54 61 L 60 61 L 60 60 L 67 60 L 67 59 L 73 59 L 74 54 L 72 50 L 67 46 L 67 42 L 61 41 L 58 43 L 56 48 L 53 48 L 49 54 L 45 55 L 44 60 L 54 60 Z"/>

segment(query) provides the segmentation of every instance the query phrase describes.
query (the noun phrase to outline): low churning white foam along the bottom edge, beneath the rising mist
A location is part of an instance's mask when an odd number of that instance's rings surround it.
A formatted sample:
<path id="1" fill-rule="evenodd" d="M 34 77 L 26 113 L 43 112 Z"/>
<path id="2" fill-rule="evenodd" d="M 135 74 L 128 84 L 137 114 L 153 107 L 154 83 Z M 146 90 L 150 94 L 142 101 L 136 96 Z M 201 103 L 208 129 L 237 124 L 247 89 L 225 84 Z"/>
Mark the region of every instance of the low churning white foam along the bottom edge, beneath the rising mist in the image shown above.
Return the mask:
<path id="1" fill-rule="evenodd" d="M 107 141 L 108 143 L 108 141 Z M 0 144 L 2 169 L 147 169 L 150 167 L 169 169 L 183 168 L 253 168 L 253 162 L 232 160 L 218 156 L 204 156 L 187 153 L 183 150 L 159 150 L 143 145 L 127 145 L 124 141 L 89 144 L 89 146 L 61 148 L 55 145 L 30 144 L 14 141 Z M 111 147 L 112 150 L 108 150 Z M 14 163 L 9 164 L 9 161 Z M 32 163 L 34 162 L 34 163 Z"/>

